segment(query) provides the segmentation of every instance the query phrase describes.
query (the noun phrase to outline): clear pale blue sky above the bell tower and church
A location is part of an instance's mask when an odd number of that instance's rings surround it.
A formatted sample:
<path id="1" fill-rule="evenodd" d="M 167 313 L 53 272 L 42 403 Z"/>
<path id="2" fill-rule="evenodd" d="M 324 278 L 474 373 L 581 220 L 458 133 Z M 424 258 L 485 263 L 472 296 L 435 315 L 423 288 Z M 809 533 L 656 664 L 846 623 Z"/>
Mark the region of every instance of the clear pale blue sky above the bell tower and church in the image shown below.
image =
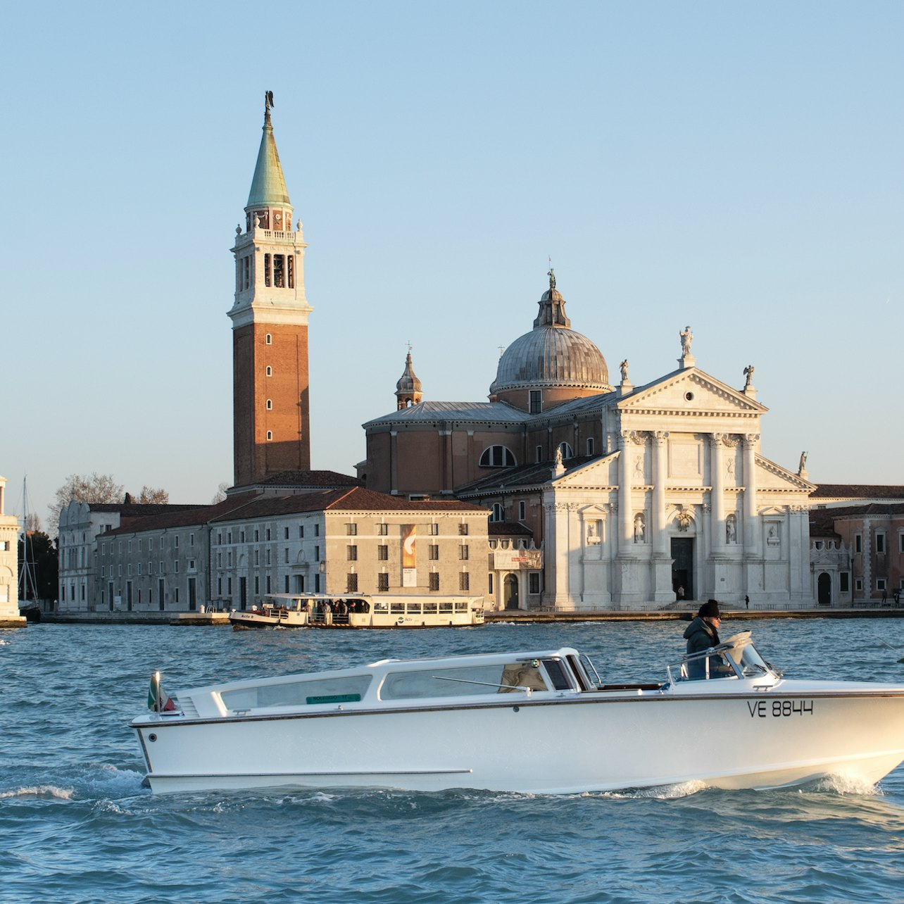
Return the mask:
<path id="1" fill-rule="evenodd" d="M 265 90 L 304 223 L 312 466 L 408 344 L 485 400 L 555 268 L 635 385 L 756 367 L 761 451 L 904 484 L 904 4 L 43 0 L 0 33 L 6 513 L 231 483 L 235 226 Z"/>

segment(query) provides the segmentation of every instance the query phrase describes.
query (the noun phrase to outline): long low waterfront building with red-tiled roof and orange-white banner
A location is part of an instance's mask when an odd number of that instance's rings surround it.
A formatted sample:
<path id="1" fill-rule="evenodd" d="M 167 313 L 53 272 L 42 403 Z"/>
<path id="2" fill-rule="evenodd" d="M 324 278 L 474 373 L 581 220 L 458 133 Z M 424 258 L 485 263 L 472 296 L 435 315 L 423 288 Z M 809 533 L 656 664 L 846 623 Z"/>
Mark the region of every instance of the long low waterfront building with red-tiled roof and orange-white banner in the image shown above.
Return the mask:
<path id="1" fill-rule="evenodd" d="M 101 534 L 97 596 L 130 612 L 244 609 L 269 593 L 488 597 L 486 515 L 363 487 L 233 494 Z"/>

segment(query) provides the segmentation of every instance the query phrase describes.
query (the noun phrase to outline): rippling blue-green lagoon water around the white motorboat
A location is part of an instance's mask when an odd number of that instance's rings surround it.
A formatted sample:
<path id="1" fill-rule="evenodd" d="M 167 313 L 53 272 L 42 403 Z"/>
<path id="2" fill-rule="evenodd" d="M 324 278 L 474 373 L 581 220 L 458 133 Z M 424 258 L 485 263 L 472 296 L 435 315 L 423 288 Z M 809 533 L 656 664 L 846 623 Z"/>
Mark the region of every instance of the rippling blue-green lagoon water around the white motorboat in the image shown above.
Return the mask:
<path id="1" fill-rule="evenodd" d="M 904 682 L 881 643 L 904 650 L 904 620 L 732 620 L 723 634 L 748 626 L 788 676 Z M 175 689 L 384 656 L 574 645 L 608 680 L 658 679 L 684 627 L 0 631 L 0 901 L 904 899 L 904 768 L 876 787 L 757 792 L 151 796 L 126 727 L 156 668 Z M 569 744 L 560 739 L 563 761 Z"/>

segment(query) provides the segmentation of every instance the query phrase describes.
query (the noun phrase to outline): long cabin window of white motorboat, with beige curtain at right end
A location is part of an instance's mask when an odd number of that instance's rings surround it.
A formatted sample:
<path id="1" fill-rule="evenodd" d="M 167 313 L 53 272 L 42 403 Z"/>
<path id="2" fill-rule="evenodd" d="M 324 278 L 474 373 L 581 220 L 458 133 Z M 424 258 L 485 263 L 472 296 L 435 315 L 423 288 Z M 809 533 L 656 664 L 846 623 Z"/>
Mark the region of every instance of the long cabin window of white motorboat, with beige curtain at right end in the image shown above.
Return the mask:
<path id="1" fill-rule="evenodd" d="M 525 689 L 549 690 L 535 659 L 454 669 L 391 672 L 383 681 L 380 697 L 381 700 L 420 700 L 424 697 L 513 693 Z"/>

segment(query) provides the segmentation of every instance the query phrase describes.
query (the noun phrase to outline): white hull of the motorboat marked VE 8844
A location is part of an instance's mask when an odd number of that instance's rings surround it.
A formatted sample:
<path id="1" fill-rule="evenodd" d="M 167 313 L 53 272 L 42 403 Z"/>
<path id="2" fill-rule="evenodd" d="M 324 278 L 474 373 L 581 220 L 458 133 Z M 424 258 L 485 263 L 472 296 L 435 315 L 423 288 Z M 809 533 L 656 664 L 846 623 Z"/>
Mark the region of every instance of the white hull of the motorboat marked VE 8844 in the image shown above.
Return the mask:
<path id="1" fill-rule="evenodd" d="M 820 692 L 814 684 L 783 693 L 159 716 L 133 726 L 155 792 L 377 786 L 568 794 L 688 781 L 764 788 L 837 775 L 874 783 L 904 760 L 904 692 Z"/>

